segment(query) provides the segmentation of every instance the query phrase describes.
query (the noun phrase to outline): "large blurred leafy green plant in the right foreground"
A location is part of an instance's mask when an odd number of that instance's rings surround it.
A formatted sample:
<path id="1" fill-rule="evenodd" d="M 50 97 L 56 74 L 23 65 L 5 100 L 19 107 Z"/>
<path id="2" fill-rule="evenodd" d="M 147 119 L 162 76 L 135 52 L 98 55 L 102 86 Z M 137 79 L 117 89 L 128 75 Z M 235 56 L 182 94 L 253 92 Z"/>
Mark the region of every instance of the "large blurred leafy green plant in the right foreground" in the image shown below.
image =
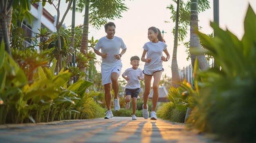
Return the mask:
<path id="1" fill-rule="evenodd" d="M 213 38 L 197 32 L 210 52 L 191 51 L 213 56 L 221 70 L 214 67 L 197 73 L 201 98 L 192 108 L 188 122 L 202 132 L 217 134 L 219 139 L 232 143 L 256 142 L 256 104 L 252 103 L 256 101 L 255 24 L 256 14 L 249 6 L 242 40 L 211 23 Z"/>

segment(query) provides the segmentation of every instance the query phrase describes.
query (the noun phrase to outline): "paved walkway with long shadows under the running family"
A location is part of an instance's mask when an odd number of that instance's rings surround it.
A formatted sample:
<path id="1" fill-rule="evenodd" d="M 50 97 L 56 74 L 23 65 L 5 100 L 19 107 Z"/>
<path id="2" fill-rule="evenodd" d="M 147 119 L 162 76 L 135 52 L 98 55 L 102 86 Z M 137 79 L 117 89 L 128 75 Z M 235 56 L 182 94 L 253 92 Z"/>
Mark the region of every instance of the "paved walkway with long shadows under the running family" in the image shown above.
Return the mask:
<path id="1" fill-rule="evenodd" d="M 137 117 L 0 125 L 0 143 L 217 143 L 184 124 Z"/>

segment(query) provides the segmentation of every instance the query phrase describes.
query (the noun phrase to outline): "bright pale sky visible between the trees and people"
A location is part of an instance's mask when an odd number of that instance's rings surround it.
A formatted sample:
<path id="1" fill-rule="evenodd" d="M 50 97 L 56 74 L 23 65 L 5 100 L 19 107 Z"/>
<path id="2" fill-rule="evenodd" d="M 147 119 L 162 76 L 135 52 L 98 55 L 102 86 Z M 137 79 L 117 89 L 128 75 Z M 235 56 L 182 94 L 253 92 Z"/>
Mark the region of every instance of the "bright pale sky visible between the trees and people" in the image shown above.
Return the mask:
<path id="1" fill-rule="evenodd" d="M 202 26 L 201 32 L 205 34 L 213 32 L 213 29 L 209 25 L 210 21 L 213 21 L 213 0 L 209 1 L 211 9 L 199 13 L 198 15 L 198 19 L 200 20 L 199 26 Z M 170 10 L 166 9 L 166 7 L 175 3 L 172 0 L 126 0 L 125 4 L 129 10 L 122 13 L 123 18 L 112 21 L 116 24 L 115 35 L 121 37 L 127 46 L 127 51 L 121 58 L 123 63 L 121 74 L 124 70 L 131 67 L 131 56 L 137 55 L 141 57 L 143 52 L 142 46 L 149 41 L 147 33 L 150 26 L 155 26 L 159 28 L 160 31 L 164 30 L 166 32 L 164 33 L 164 39 L 166 40 L 168 52 L 172 58 L 174 38 L 171 31 L 173 27 L 175 27 L 175 23 L 171 21 Z M 249 4 L 251 4 L 254 12 L 256 12 L 256 0 L 219 0 L 220 27 L 222 29 L 229 29 L 229 31 L 241 39 L 244 33 L 243 21 Z M 63 4 L 63 6 L 65 7 L 65 4 Z M 52 13 L 52 15 L 56 13 L 49 4 L 45 6 L 45 9 Z M 83 24 L 83 14 L 84 13 L 76 13 L 76 26 Z M 71 25 L 71 18 L 72 13 L 70 11 L 64 21 L 66 26 Z M 170 21 L 170 23 L 164 23 L 164 21 Z M 106 36 L 103 26 L 99 31 L 90 27 L 89 31 L 89 39 L 92 36 L 94 36 L 94 40 Z M 187 36 L 184 42 L 189 41 L 189 29 Z M 187 55 L 182 42 L 178 42 L 178 44 L 180 44 L 180 46 L 178 46 L 177 49 L 177 62 L 179 68 L 183 68 L 189 65 L 191 61 L 186 61 Z M 100 61 L 101 57 L 97 56 L 97 60 Z M 171 77 L 171 59 L 168 62 L 163 62 L 163 66 L 165 69 L 163 74 Z M 144 62 L 140 62 L 140 68 L 143 70 Z M 97 69 L 100 71 L 99 65 Z"/>

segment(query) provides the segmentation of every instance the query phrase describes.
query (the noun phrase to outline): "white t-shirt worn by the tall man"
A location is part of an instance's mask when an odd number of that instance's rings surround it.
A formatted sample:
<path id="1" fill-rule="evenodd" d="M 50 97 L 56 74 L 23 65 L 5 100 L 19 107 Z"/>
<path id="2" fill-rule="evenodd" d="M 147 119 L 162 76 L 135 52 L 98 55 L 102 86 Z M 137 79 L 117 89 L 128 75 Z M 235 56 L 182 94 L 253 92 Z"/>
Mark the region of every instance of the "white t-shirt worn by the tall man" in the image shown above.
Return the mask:
<path id="1" fill-rule="evenodd" d="M 108 56 L 105 59 L 102 59 L 102 64 L 110 65 L 121 63 L 121 59 L 118 60 L 115 58 L 116 54 L 120 53 L 120 48 L 125 49 L 126 45 L 124 41 L 117 36 L 114 36 L 113 39 L 108 39 L 107 36 L 101 37 L 97 42 L 95 49 L 99 51 L 101 49 L 101 53 L 107 53 Z"/>

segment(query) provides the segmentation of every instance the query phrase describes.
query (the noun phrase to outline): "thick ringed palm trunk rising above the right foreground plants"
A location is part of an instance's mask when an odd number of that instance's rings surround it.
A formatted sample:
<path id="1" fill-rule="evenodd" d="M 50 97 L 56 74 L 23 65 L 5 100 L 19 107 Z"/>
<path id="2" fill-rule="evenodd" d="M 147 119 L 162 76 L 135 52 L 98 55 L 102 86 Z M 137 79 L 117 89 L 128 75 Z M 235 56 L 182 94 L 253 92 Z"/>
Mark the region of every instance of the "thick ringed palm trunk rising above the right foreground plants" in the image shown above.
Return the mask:
<path id="1" fill-rule="evenodd" d="M 191 0 L 190 13 L 190 48 L 202 48 L 200 40 L 195 31 L 198 30 L 198 0 Z M 191 64 L 194 67 L 195 58 L 198 58 L 201 70 L 209 68 L 205 55 L 195 55 L 191 53 Z"/>

